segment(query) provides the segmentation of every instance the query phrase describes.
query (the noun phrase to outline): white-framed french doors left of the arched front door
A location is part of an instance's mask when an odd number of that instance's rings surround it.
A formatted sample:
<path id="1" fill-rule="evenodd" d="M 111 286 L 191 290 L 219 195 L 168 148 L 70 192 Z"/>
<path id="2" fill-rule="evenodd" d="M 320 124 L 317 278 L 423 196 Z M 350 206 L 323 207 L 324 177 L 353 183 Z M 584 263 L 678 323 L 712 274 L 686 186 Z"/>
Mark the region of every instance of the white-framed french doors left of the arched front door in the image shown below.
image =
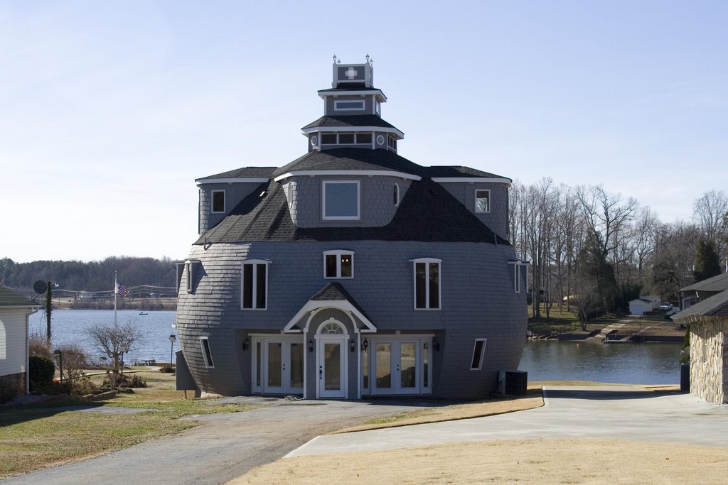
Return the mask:
<path id="1" fill-rule="evenodd" d="M 253 338 L 253 390 L 269 394 L 304 393 L 305 355 L 301 337 Z"/>

